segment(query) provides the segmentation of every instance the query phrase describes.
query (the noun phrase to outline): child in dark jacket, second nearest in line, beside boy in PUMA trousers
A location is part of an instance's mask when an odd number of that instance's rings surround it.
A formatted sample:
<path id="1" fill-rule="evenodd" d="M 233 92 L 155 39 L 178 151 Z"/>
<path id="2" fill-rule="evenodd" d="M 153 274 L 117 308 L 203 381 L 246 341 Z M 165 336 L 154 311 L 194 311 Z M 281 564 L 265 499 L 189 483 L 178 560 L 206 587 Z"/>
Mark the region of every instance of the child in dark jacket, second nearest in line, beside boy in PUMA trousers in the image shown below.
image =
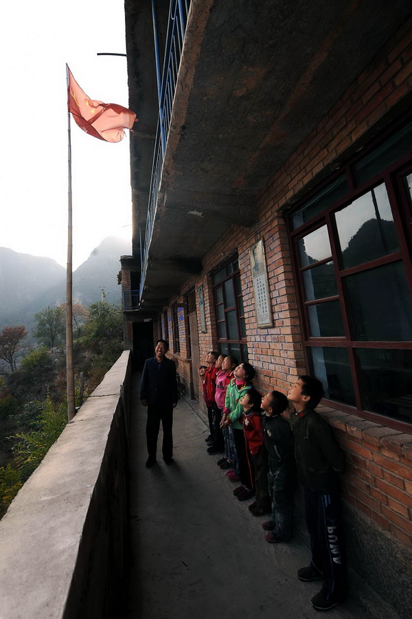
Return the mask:
<path id="1" fill-rule="evenodd" d="M 263 440 L 268 453 L 268 491 L 272 499 L 271 520 L 262 527 L 270 533 L 266 541 L 290 541 L 293 534 L 293 495 L 295 493 L 295 458 L 293 433 L 284 417 L 288 406 L 286 395 L 268 391 L 262 398 Z"/>

